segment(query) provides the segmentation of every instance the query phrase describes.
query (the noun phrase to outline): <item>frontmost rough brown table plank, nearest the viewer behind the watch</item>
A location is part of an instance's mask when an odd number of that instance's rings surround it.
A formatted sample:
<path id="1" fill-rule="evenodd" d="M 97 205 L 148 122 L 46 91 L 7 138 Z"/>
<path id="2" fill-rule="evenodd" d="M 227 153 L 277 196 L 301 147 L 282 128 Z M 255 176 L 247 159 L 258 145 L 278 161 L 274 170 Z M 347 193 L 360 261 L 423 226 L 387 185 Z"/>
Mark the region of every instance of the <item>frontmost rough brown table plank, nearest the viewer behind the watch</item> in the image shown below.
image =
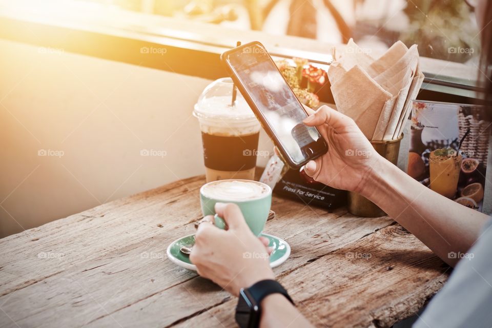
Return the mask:
<path id="1" fill-rule="evenodd" d="M 319 327 L 389 327 L 414 315 L 446 281 L 447 265 L 397 224 L 347 244 L 279 281 Z M 178 327 L 235 326 L 231 299 Z"/>

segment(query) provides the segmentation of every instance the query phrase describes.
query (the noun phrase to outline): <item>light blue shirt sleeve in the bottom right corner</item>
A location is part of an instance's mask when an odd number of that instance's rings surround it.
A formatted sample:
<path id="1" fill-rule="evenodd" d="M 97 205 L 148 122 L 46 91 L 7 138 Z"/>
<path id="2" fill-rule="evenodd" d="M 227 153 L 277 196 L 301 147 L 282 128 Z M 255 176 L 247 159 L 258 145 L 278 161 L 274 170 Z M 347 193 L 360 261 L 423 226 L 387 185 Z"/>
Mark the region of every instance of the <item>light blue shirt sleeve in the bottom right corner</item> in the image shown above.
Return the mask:
<path id="1" fill-rule="evenodd" d="M 461 258 L 414 328 L 492 327 L 492 220 Z"/>

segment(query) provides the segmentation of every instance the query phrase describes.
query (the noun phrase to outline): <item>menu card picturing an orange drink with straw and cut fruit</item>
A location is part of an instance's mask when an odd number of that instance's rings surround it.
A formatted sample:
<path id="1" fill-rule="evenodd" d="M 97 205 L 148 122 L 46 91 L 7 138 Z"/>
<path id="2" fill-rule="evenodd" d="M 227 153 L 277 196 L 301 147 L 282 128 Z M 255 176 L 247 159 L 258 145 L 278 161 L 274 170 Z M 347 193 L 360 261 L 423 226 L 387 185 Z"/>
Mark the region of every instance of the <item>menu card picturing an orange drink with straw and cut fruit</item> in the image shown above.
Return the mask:
<path id="1" fill-rule="evenodd" d="M 441 195 L 482 211 L 484 191 L 492 187 L 486 178 L 490 129 L 482 106 L 414 100 L 407 173 Z"/>

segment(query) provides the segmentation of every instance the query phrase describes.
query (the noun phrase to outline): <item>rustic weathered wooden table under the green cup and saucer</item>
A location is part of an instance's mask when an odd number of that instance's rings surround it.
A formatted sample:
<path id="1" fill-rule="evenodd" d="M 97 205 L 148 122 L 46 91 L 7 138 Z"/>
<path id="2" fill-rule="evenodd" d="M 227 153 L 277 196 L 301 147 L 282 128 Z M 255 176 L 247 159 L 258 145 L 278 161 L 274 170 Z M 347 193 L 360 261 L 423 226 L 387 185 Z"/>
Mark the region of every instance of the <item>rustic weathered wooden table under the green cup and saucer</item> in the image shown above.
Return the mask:
<path id="1" fill-rule="evenodd" d="M 0 239 L 0 326 L 235 326 L 235 297 L 166 258 L 201 218 L 203 183 L 176 181 Z M 448 267 L 388 217 L 278 197 L 272 209 L 265 232 L 292 247 L 275 273 L 317 326 L 391 326 L 447 278 Z"/>

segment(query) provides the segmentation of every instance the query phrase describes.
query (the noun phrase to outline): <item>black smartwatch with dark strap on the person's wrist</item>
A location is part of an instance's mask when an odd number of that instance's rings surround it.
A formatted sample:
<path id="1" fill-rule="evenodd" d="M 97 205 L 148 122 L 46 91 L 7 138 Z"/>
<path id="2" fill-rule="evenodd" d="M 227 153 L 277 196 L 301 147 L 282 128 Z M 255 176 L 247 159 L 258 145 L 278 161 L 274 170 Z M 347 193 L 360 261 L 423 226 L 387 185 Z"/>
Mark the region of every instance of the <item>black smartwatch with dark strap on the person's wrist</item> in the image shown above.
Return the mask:
<path id="1" fill-rule="evenodd" d="M 287 291 L 276 280 L 261 280 L 250 288 L 241 288 L 236 306 L 236 322 L 240 328 L 257 328 L 261 319 L 261 301 L 270 294 L 280 293 L 293 305 Z"/>

